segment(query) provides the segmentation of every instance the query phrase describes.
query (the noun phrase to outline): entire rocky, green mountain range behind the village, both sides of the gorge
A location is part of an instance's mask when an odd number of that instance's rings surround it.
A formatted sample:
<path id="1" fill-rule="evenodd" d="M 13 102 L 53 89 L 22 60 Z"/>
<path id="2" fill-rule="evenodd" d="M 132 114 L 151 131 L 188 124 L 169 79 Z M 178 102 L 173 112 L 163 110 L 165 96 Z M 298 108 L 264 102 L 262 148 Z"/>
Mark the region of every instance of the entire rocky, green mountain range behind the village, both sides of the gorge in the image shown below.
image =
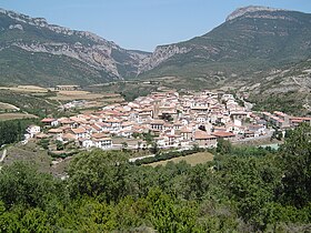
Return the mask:
<path id="1" fill-rule="evenodd" d="M 203 36 L 149 53 L 0 9 L 0 83 L 88 85 L 169 75 L 185 87 L 195 80 L 198 88 L 253 84 L 255 72 L 310 57 L 310 22 L 308 13 L 250 6 Z"/>

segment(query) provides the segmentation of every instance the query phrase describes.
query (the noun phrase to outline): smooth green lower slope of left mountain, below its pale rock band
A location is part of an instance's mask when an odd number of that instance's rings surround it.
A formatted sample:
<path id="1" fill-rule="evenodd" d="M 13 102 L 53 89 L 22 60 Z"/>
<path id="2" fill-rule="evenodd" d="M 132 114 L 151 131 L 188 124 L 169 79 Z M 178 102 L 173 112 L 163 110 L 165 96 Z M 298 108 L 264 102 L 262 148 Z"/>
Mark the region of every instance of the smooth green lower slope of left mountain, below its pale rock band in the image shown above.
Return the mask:
<path id="1" fill-rule="evenodd" d="M 66 55 L 32 53 L 11 47 L 0 51 L 0 84 L 59 83 L 81 85 L 109 80 L 109 74 Z"/>

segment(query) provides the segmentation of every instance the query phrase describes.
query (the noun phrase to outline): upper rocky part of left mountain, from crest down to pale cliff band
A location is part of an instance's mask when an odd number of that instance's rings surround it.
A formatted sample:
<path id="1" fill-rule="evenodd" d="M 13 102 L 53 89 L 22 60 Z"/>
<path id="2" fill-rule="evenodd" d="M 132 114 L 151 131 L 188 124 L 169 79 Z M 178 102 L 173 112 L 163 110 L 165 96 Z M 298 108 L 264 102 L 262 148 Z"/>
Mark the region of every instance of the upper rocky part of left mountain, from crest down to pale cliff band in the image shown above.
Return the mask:
<path id="1" fill-rule="evenodd" d="M 67 55 L 84 62 L 96 70 L 102 70 L 114 79 L 123 79 L 123 75 L 127 75 L 124 72 L 122 74 L 119 72 L 119 69 L 122 69 L 124 64 L 136 74 L 140 61 L 148 55 L 146 52 L 122 49 L 114 42 L 91 32 L 49 24 L 43 18 L 31 18 L 3 9 L 0 9 L 1 14 L 6 17 L 7 21 L 14 23 L 9 27 L 3 23 L 6 27 L 2 26 L 2 29 L 0 23 L 0 32 L 21 30 L 24 33 L 31 33 L 28 31 L 31 28 L 31 31 L 36 31 L 37 34 L 27 34 L 26 37 L 21 34 L 20 38 L 14 36 L 14 40 L 1 41 L 0 50 L 18 47 L 29 52 Z"/>

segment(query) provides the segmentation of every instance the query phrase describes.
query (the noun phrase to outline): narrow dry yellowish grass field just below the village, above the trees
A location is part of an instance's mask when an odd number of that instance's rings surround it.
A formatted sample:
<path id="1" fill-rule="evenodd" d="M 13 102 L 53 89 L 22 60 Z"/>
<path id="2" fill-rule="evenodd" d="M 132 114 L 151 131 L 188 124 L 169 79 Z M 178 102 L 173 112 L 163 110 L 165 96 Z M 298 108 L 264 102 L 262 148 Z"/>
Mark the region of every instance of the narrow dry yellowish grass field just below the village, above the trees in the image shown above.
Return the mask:
<path id="1" fill-rule="evenodd" d="M 150 163 L 147 165 L 151 165 L 151 166 L 157 166 L 157 165 L 165 165 L 168 162 L 172 161 L 174 163 L 179 163 L 181 161 L 185 161 L 187 163 L 191 164 L 191 165 L 197 165 L 199 163 L 205 163 L 209 161 L 213 160 L 213 155 L 209 152 L 199 152 L 199 153 L 194 153 L 194 154 L 190 154 L 187 156 L 179 156 L 179 158 L 174 158 L 171 160 L 165 160 L 165 161 L 159 161 L 156 163 Z"/>

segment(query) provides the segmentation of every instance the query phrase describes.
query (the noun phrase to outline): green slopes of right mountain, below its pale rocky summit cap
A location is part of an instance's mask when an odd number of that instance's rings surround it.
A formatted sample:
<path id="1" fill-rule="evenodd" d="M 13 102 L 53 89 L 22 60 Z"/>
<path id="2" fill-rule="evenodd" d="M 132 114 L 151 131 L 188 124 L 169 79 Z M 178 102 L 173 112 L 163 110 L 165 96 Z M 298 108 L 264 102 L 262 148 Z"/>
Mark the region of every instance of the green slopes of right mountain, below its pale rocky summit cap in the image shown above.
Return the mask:
<path id="1" fill-rule="evenodd" d="M 251 79 L 257 71 L 307 59 L 311 54 L 310 22 L 311 14 L 295 11 L 245 12 L 202 37 L 171 44 L 187 52 L 172 55 L 140 77 L 173 75 L 189 82 L 201 78 L 213 85 L 223 84 L 213 80 L 215 73 L 230 82 L 237 75 Z"/>

